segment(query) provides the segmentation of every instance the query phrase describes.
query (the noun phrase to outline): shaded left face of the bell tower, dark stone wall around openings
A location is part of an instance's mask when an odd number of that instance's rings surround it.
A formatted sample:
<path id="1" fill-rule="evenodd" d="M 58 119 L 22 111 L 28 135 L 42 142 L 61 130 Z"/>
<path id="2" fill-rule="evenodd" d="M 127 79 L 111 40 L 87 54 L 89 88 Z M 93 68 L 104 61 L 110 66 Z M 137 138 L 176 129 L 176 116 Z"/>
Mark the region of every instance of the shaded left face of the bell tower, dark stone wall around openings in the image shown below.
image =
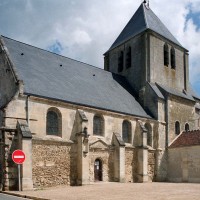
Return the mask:
<path id="1" fill-rule="evenodd" d="M 140 34 L 127 41 L 125 44 L 122 44 L 114 49 L 112 49 L 109 53 L 106 54 L 106 61 L 108 66 L 105 66 L 105 69 L 109 68 L 109 71 L 121 74 L 127 78 L 131 86 L 136 90 L 144 86 L 145 84 L 145 36 L 144 34 Z M 126 54 L 127 49 L 131 47 L 131 67 L 126 67 Z M 122 72 L 118 72 L 118 58 L 119 53 L 124 52 L 124 61 L 123 61 L 123 70 Z M 108 61 L 109 60 L 109 61 Z"/>

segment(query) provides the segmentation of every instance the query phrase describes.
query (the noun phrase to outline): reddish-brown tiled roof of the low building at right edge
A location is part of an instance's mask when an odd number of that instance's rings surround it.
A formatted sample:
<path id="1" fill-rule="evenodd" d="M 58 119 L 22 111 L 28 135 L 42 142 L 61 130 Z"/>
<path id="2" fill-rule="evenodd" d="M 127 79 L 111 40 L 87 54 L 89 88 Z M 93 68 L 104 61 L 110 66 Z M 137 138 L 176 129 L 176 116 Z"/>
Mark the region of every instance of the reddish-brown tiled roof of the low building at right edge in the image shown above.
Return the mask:
<path id="1" fill-rule="evenodd" d="M 200 130 L 182 132 L 169 146 L 178 148 L 186 146 L 200 145 Z"/>

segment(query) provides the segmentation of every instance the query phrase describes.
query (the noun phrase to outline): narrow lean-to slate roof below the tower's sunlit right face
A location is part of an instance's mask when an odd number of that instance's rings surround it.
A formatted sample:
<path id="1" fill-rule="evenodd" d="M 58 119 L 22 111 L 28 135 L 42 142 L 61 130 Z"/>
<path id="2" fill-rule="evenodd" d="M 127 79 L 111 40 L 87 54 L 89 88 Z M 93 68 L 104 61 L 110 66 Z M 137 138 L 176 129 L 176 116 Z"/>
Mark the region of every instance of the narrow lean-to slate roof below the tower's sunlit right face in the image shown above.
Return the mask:
<path id="1" fill-rule="evenodd" d="M 194 98 L 192 97 L 192 95 L 188 92 L 188 93 L 184 93 L 184 92 L 180 92 L 179 90 L 176 90 L 174 88 L 168 88 L 166 86 L 163 86 L 161 84 L 157 84 L 159 90 L 163 93 L 163 94 L 171 94 L 174 96 L 178 96 L 187 100 L 191 100 L 191 101 L 195 101 Z"/>

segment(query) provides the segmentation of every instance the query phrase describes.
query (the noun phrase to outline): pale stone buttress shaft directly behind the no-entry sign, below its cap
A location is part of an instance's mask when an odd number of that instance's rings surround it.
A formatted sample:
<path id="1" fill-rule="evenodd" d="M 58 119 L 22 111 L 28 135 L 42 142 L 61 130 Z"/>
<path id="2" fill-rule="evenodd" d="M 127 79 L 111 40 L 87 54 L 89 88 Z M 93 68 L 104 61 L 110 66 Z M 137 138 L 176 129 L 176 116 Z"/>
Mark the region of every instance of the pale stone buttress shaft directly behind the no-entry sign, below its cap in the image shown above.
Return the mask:
<path id="1" fill-rule="evenodd" d="M 22 190 L 33 190 L 32 179 L 32 138 L 22 138 L 22 151 L 26 159 L 21 167 Z"/>

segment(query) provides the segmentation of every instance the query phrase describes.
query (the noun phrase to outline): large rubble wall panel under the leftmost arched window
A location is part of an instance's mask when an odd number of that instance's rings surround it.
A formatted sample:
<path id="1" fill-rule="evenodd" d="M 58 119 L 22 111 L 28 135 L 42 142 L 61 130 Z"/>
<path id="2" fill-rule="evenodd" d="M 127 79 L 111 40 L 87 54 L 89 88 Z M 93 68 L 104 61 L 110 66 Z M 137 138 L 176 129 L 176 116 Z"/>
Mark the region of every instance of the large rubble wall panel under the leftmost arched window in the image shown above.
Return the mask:
<path id="1" fill-rule="evenodd" d="M 33 139 L 34 188 L 70 184 L 70 150 L 67 142 Z"/>

